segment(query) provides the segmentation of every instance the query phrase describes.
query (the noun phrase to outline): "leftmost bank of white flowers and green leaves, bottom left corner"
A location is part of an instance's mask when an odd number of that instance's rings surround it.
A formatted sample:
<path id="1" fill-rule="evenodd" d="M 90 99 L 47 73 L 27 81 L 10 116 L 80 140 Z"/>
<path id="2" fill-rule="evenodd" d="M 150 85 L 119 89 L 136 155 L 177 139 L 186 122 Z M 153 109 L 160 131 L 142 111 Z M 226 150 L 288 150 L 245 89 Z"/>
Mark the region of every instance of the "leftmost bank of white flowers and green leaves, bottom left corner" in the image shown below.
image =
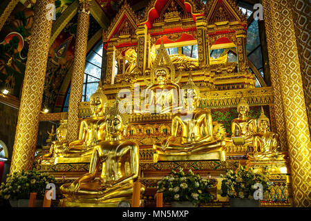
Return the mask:
<path id="1" fill-rule="evenodd" d="M 0 186 L 0 196 L 3 199 L 29 199 L 30 193 L 37 193 L 37 199 L 43 199 L 46 184 L 55 182 L 55 177 L 41 171 L 21 171 L 7 175 L 6 184 Z"/>

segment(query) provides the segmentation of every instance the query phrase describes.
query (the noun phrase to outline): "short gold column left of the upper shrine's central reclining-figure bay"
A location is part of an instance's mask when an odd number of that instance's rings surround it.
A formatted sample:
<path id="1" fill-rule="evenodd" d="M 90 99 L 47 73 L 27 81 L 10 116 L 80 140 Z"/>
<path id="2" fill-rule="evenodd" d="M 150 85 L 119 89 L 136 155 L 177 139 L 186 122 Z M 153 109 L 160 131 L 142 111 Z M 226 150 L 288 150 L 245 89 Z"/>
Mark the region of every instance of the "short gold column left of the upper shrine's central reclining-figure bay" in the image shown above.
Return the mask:
<path id="1" fill-rule="evenodd" d="M 137 72 L 142 75 L 146 69 L 147 59 L 144 59 L 147 55 L 147 26 L 139 26 L 136 30 L 136 35 L 138 39 L 137 46 Z"/>

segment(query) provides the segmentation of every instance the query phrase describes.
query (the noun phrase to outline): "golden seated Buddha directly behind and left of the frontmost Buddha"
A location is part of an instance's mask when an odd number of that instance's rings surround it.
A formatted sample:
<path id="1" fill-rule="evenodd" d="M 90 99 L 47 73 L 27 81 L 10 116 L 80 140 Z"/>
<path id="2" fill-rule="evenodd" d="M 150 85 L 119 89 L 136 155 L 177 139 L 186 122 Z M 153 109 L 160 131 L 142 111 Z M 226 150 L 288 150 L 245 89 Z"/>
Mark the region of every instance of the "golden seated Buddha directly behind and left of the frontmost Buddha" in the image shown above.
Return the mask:
<path id="1" fill-rule="evenodd" d="M 90 162 L 93 146 L 106 139 L 105 117 L 107 97 L 102 91 L 102 84 L 90 97 L 91 117 L 82 120 L 79 128 L 79 139 L 70 142 L 64 153 L 57 157 L 56 163 Z"/>

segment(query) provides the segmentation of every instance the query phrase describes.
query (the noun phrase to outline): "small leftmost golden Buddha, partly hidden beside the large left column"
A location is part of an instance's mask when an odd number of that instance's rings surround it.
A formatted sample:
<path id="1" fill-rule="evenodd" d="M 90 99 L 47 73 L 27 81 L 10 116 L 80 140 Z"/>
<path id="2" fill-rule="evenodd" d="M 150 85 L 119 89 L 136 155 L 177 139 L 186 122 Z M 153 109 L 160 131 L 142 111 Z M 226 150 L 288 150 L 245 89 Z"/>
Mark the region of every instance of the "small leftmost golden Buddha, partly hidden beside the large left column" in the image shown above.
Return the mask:
<path id="1" fill-rule="evenodd" d="M 62 155 L 64 153 L 68 142 L 66 141 L 67 135 L 67 126 L 61 122 L 61 125 L 56 129 L 56 136 L 57 140 L 53 141 L 50 145 L 50 151 L 45 154 L 41 155 L 37 163 L 38 164 L 54 164 L 55 157 L 57 155 Z"/>

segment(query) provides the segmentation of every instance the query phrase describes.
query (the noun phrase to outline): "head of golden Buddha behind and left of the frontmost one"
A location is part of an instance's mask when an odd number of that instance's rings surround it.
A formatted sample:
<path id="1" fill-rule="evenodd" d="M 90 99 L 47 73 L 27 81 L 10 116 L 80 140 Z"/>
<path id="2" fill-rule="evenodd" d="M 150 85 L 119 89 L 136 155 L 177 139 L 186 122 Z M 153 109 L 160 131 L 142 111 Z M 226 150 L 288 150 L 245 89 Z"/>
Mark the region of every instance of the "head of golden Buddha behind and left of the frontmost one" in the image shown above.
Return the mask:
<path id="1" fill-rule="evenodd" d="M 102 83 L 98 84 L 97 90 L 90 97 L 90 109 L 93 115 L 103 116 L 106 111 L 107 97 L 102 91 Z"/>

